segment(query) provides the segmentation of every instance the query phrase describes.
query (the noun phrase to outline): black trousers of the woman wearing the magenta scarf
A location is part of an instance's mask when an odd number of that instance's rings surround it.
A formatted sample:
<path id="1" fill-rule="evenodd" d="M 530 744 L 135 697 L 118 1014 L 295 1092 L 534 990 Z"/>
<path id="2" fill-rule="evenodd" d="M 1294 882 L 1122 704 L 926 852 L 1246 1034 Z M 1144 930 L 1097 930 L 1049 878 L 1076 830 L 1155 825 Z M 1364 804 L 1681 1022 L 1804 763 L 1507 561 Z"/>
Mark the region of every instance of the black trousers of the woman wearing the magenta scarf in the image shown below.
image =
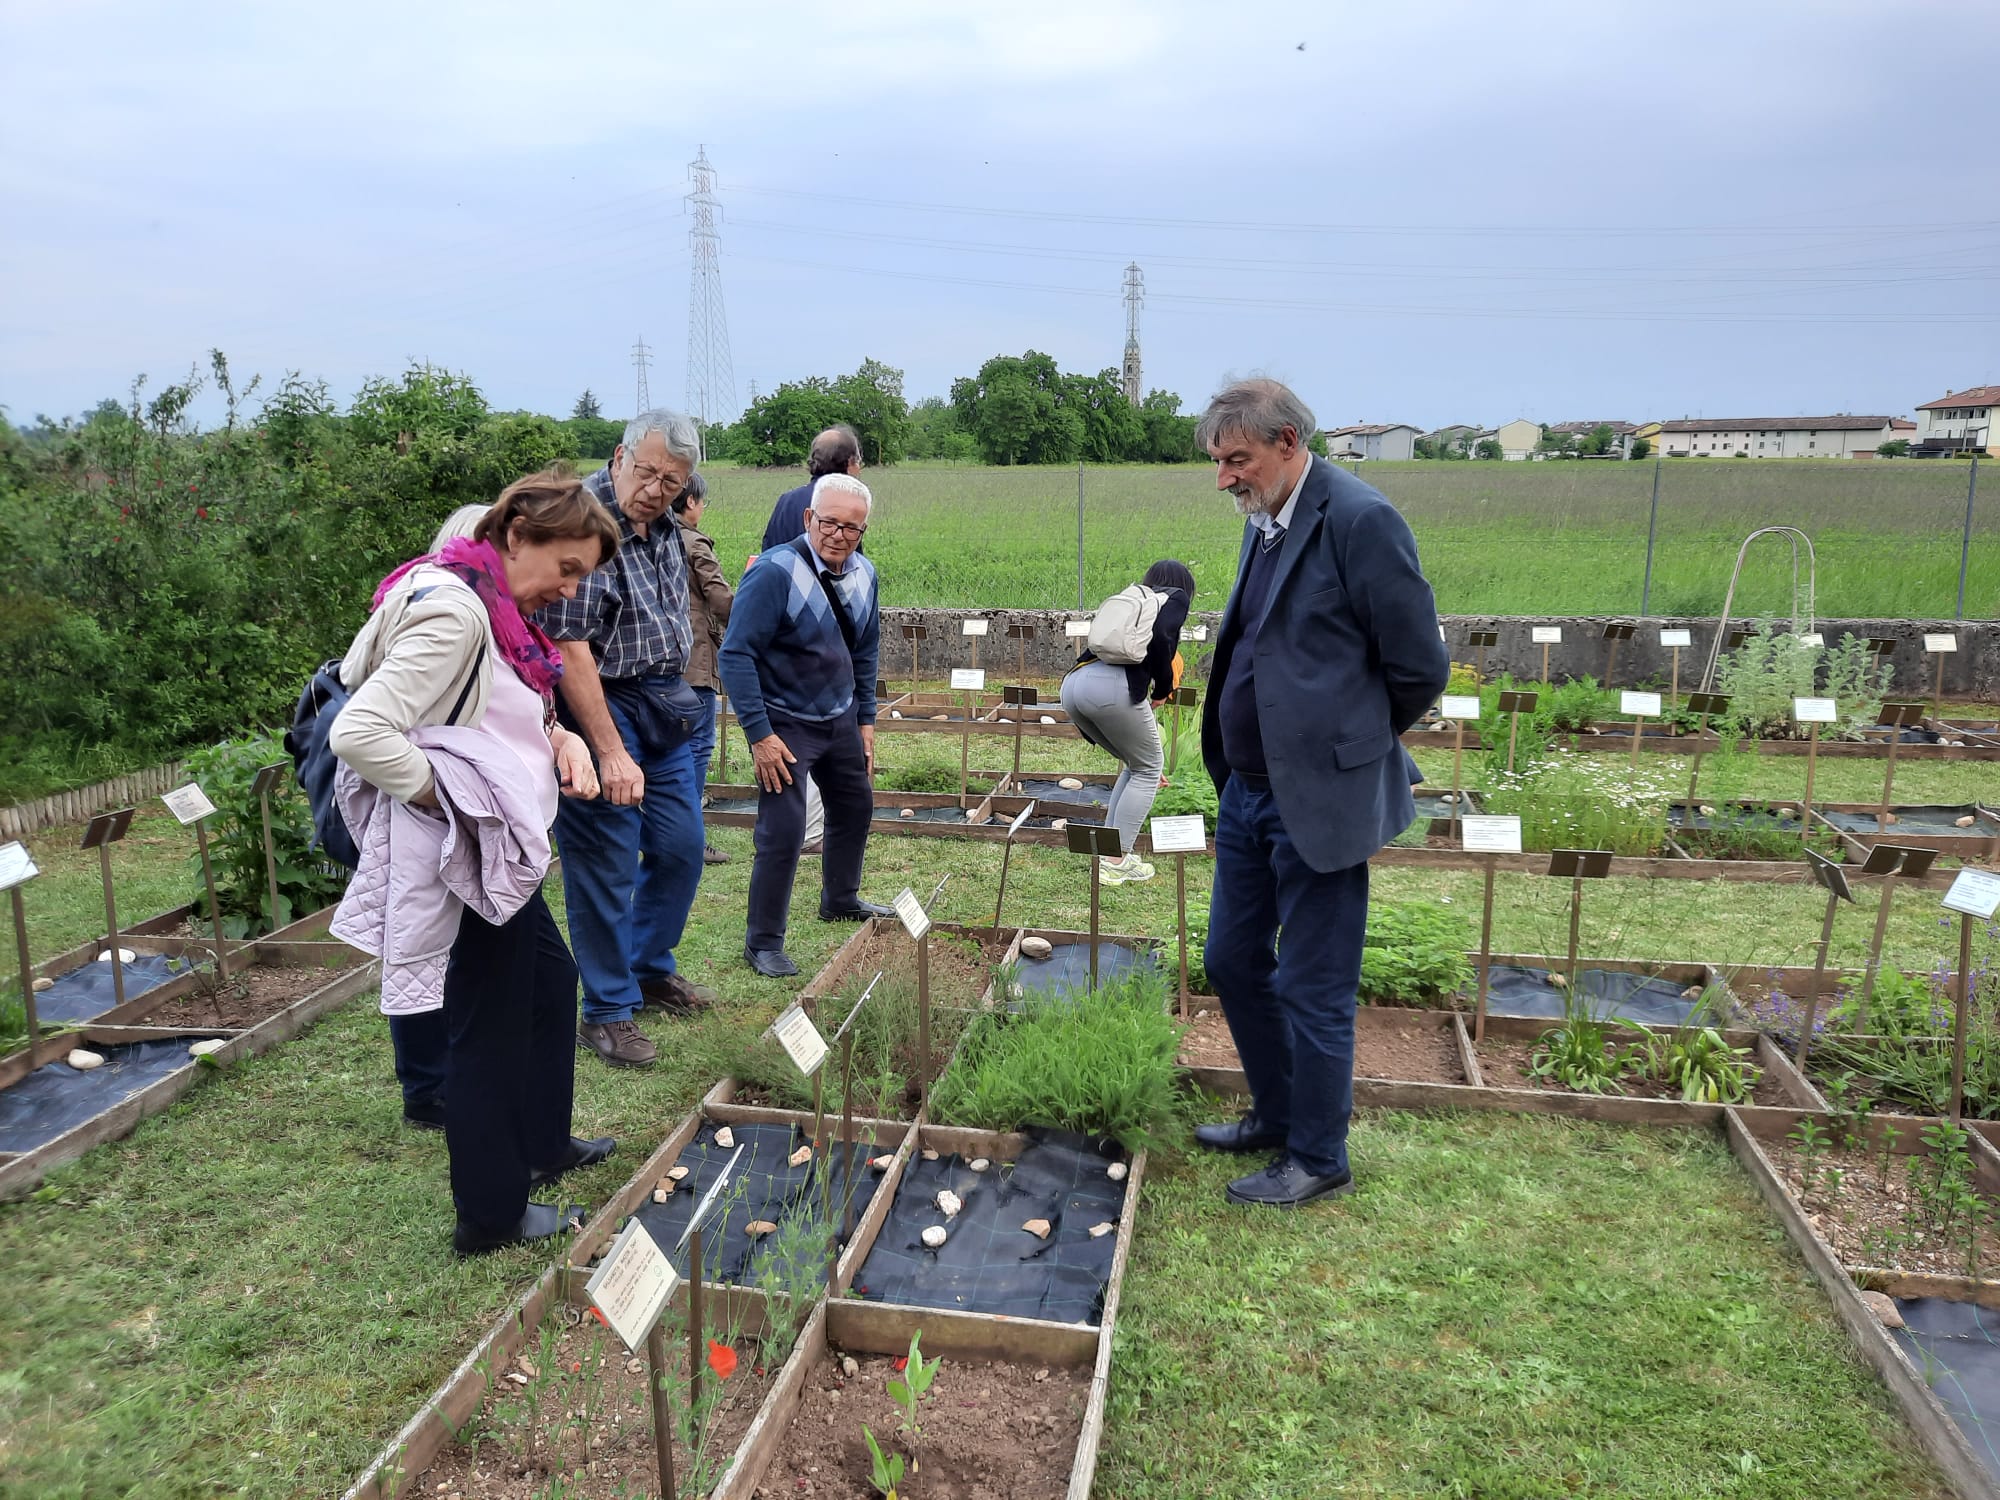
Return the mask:
<path id="1" fill-rule="evenodd" d="M 458 922 L 444 970 L 444 1142 L 458 1218 L 500 1232 L 528 1208 L 530 1168 L 570 1150 L 576 962 L 536 892 L 504 926 Z"/>

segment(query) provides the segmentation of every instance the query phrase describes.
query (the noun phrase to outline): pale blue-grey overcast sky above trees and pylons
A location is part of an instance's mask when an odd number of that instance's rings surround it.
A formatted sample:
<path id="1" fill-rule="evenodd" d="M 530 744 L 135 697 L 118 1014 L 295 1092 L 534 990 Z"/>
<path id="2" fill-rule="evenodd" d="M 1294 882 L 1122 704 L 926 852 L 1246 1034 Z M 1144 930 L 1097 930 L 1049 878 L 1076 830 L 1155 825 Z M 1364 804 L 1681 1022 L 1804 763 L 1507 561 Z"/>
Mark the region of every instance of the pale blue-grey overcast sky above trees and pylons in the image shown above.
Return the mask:
<path id="1" fill-rule="evenodd" d="M 624 416 L 640 336 L 680 402 L 706 146 L 738 398 L 1116 366 L 1138 260 L 1190 402 L 1908 414 L 2000 382 L 1996 76 L 1992 0 L 0 0 L 0 406 L 220 346 Z"/>

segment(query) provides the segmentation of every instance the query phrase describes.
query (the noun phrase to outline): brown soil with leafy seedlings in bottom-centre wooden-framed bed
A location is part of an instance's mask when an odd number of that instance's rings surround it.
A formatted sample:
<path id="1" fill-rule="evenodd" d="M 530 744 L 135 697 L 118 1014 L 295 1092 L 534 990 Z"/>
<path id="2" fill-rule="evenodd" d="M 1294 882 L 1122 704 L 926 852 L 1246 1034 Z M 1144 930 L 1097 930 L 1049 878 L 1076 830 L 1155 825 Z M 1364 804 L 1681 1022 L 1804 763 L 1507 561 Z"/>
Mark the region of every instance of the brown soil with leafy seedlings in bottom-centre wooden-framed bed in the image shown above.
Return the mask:
<path id="1" fill-rule="evenodd" d="M 900 1406 L 886 1394 L 896 1360 L 860 1356 L 844 1378 L 838 1358 L 806 1376 L 804 1402 L 772 1460 L 758 1496 L 870 1500 L 866 1424 L 882 1452 L 910 1454 L 896 1432 Z M 910 1500 L 1062 1500 L 1090 1398 L 1086 1370 L 1002 1360 L 946 1360 L 920 1408 L 916 1474 L 898 1494 Z"/>

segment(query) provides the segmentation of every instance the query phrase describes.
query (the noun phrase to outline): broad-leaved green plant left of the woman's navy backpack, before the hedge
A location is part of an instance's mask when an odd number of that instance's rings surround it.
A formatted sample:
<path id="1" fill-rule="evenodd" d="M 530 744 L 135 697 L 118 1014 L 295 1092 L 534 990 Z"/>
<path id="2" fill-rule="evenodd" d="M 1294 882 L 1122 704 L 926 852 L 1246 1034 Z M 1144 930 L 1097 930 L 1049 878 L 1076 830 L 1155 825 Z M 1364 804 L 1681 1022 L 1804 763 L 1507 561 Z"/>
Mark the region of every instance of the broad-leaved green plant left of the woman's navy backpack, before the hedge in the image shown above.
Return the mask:
<path id="1" fill-rule="evenodd" d="M 312 806 L 290 774 L 270 794 L 270 836 L 278 864 L 278 910 L 270 910 L 264 874 L 264 814 L 250 792 L 256 772 L 290 760 L 274 734 L 224 740 L 188 756 L 188 776 L 200 782 L 216 814 L 208 822 L 208 852 L 222 906 L 222 936 L 246 938 L 274 932 L 296 918 L 332 904 L 346 890 L 348 872 L 312 848 Z M 212 920 L 202 886 L 200 854 L 190 856 L 194 914 Z"/>

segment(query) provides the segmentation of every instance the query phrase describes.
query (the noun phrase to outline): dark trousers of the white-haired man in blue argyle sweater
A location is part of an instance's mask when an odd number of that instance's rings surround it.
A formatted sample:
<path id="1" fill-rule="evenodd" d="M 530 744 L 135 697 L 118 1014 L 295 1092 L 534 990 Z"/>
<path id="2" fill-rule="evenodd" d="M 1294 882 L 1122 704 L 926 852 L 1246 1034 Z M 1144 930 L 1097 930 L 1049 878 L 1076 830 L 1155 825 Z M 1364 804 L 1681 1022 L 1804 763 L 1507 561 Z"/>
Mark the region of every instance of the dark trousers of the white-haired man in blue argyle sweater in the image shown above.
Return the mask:
<path id="1" fill-rule="evenodd" d="M 748 948 L 784 948 L 792 914 L 792 876 L 806 842 L 806 776 L 820 788 L 826 808 L 826 852 L 820 856 L 820 906 L 852 908 L 862 894 L 862 856 L 874 820 L 874 786 L 854 708 L 816 724 L 770 716 L 770 730 L 792 752 L 792 784 L 760 792 L 756 802 L 756 862 L 750 866 Z"/>

